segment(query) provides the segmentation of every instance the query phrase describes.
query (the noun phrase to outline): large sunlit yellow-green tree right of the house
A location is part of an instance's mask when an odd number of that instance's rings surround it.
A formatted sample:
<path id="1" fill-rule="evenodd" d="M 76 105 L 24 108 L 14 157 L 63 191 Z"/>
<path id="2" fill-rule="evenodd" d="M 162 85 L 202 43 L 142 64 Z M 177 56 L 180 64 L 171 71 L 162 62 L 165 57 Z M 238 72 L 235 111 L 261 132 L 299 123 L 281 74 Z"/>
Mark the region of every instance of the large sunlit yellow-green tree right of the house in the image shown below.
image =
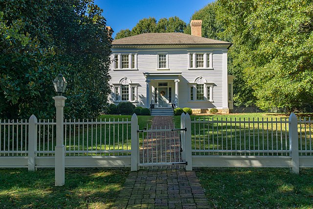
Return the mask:
<path id="1" fill-rule="evenodd" d="M 233 64 L 262 109 L 310 107 L 313 100 L 312 0 L 217 0 L 236 48 Z M 311 109 L 312 111 L 312 109 Z"/>

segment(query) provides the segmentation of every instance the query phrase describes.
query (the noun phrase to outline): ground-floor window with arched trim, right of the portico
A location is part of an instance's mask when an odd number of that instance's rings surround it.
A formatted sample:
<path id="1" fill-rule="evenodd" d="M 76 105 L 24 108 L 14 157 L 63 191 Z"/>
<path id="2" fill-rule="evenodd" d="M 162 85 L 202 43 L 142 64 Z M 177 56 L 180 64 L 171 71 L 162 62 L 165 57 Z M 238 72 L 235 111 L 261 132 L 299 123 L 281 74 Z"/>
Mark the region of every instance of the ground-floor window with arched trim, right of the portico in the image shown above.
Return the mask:
<path id="1" fill-rule="evenodd" d="M 213 86 L 214 83 L 208 83 L 201 76 L 196 78 L 194 83 L 189 84 L 189 100 L 213 102 Z"/>

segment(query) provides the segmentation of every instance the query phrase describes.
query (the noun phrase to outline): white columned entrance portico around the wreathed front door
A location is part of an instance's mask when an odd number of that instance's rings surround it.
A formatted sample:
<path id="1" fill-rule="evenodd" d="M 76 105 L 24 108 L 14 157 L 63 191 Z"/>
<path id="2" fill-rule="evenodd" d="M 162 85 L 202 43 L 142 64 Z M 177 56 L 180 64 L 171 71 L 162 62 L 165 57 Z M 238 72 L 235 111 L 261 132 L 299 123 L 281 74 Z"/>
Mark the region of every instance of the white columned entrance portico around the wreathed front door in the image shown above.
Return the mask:
<path id="1" fill-rule="evenodd" d="M 147 84 L 147 108 L 179 107 L 179 77 L 181 72 L 144 72 Z"/>

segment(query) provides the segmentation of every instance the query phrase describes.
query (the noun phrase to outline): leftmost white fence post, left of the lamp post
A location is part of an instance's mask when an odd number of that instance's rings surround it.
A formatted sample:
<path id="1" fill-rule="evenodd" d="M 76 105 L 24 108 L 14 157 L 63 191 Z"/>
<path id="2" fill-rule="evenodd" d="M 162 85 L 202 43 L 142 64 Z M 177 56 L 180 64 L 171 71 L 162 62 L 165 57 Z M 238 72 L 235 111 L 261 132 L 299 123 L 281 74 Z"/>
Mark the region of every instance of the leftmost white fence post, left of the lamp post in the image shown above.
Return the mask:
<path id="1" fill-rule="evenodd" d="M 35 171 L 35 152 L 37 151 L 37 117 L 32 115 L 28 120 L 28 170 Z"/>

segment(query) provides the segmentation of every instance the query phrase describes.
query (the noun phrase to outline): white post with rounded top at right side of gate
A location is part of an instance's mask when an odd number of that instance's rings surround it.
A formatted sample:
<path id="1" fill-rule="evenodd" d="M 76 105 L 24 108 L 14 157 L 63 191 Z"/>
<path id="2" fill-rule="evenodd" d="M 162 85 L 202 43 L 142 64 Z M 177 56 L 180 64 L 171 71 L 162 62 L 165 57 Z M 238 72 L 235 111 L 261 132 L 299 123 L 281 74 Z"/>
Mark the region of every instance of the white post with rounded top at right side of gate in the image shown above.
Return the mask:
<path id="1" fill-rule="evenodd" d="M 192 170 L 192 148 L 191 148 L 191 119 L 189 114 L 187 113 L 184 121 L 185 128 L 185 160 L 187 162 L 186 170 Z"/>

